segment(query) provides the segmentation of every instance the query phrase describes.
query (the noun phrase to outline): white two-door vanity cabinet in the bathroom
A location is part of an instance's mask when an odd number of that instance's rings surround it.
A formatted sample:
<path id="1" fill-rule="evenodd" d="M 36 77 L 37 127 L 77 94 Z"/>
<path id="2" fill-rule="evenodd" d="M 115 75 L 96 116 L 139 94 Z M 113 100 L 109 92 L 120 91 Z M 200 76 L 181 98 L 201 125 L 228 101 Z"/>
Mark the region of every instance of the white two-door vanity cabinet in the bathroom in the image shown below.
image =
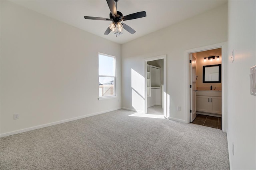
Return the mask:
<path id="1" fill-rule="evenodd" d="M 221 115 L 221 91 L 197 91 L 196 111 Z"/>

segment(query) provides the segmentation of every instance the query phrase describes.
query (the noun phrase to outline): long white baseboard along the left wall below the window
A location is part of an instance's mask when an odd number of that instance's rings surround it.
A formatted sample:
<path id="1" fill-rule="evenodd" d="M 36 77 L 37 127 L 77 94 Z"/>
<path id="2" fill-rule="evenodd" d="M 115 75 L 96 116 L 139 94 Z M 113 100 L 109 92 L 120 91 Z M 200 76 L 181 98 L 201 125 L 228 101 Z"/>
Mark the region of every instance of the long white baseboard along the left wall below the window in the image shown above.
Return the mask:
<path id="1" fill-rule="evenodd" d="M 122 109 L 122 108 L 121 108 L 121 107 L 118 107 L 118 108 L 110 109 L 110 110 L 107 110 L 107 111 L 101 111 L 101 112 L 97 112 L 97 113 L 91 113 L 91 114 L 89 114 L 89 115 L 83 115 L 83 116 L 74 117 L 74 118 L 71 118 L 71 119 L 65 119 L 65 120 L 62 120 L 62 121 L 57 121 L 57 122 L 52 122 L 52 123 L 46 123 L 46 124 L 43 124 L 43 125 L 38 125 L 38 126 L 30 127 L 30 128 L 24 128 L 24 129 L 21 129 L 21 130 L 15 130 L 15 131 L 12 131 L 12 132 L 6 132 L 6 133 L 0 134 L 0 138 L 5 137 L 5 136 L 10 136 L 10 135 L 13 135 L 13 134 L 18 134 L 18 133 L 22 133 L 22 132 L 27 132 L 27 131 L 30 131 L 30 130 L 36 130 L 36 129 L 38 129 L 38 128 L 50 127 L 50 126 L 52 126 L 52 125 L 58 125 L 58 124 L 60 124 L 60 123 L 66 123 L 66 122 L 70 122 L 70 121 L 75 121 L 75 120 L 83 119 L 83 118 L 90 117 L 90 116 L 100 115 L 100 114 L 102 114 L 102 113 L 107 113 L 107 112 L 115 111 L 115 110 L 118 110 L 118 109 Z"/>

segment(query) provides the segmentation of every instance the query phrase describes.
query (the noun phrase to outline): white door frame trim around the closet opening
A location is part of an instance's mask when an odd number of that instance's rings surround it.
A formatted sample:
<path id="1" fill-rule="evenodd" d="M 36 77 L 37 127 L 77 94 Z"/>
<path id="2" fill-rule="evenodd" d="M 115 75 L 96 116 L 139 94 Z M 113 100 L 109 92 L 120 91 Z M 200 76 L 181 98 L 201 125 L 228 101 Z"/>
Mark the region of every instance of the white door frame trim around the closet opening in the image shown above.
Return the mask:
<path id="1" fill-rule="evenodd" d="M 146 58 L 144 60 L 144 75 L 145 75 L 145 108 L 144 108 L 144 114 L 148 113 L 148 94 L 147 94 L 147 64 L 148 61 L 154 61 L 154 60 L 158 60 L 158 59 L 164 59 L 164 117 L 167 116 L 167 105 L 166 105 L 166 54 L 165 55 L 159 55 L 156 57 L 150 57 L 150 58 Z M 162 68 L 161 68 L 162 69 Z"/>

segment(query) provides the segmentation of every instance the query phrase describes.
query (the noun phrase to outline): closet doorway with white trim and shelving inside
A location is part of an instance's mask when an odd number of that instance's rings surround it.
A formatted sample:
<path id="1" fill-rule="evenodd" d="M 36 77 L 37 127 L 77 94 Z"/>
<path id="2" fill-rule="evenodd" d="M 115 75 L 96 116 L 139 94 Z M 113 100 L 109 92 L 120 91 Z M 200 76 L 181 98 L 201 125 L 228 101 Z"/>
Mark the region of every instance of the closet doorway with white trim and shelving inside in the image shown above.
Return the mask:
<path id="1" fill-rule="evenodd" d="M 145 60 L 145 113 L 166 117 L 166 55 Z"/>

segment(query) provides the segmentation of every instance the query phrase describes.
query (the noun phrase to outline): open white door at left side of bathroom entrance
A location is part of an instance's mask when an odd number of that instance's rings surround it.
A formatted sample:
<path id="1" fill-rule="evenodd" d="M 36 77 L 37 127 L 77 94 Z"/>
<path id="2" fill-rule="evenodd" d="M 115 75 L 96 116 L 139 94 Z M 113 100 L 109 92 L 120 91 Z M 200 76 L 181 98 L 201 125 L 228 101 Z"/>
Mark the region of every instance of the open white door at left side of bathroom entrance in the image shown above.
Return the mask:
<path id="1" fill-rule="evenodd" d="M 196 58 L 190 54 L 190 122 L 196 118 Z"/>

